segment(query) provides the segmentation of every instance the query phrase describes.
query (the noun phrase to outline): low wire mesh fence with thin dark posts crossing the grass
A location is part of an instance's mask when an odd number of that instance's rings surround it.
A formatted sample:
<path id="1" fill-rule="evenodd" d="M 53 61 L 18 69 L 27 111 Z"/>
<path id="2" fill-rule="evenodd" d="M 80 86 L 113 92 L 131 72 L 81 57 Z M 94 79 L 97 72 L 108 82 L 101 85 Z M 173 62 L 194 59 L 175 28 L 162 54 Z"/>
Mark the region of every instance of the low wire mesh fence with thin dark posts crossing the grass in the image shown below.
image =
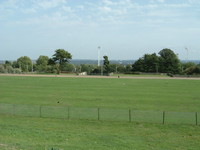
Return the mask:
<path id="1" fill-rule="evenodd" d="M 148 122 L 199 125 L 198 112 L 139 111 L 133 109 L 81 108 L 0 104 L 0 114 L 27 117 Z"/>

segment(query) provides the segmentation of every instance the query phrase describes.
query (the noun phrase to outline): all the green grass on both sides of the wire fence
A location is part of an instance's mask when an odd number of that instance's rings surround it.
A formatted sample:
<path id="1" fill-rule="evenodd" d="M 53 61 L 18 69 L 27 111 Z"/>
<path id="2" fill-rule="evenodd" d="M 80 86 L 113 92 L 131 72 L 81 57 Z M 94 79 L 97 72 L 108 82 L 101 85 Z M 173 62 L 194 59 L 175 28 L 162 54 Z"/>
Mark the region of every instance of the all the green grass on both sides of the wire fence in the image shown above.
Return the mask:
<path id="1" fill-rule="evenodd" d="M 199 112 L 200 80 L 0 76 L 0 103 Z M 59 103 L 58 103 L 59 101 Z M 0 115 L 0 149 L 199 149 L 195 125 Z"/>

